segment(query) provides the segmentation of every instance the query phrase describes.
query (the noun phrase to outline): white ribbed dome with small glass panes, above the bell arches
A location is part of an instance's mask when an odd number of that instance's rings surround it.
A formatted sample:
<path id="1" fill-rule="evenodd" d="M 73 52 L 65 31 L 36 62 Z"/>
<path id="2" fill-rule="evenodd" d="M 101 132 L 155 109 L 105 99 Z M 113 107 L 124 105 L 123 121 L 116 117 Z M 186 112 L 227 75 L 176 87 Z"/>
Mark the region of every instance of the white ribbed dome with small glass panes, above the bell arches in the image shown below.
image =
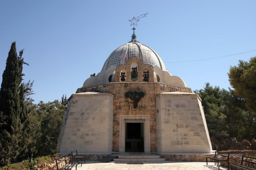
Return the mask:
<path id="1" fill-rule="evenodd" d="M 164 62 L 153 49 L 139 42 L 129 42 L 118 47 L 110 54 L 101 72 L 105 72 L 111 66 L 117 67 L 120 64 L 126 64 L 130 57 L 138 57 L 144 64 L 150 64 L 153 67 L 157 66 L 161 70 L 167 71 Z"/>

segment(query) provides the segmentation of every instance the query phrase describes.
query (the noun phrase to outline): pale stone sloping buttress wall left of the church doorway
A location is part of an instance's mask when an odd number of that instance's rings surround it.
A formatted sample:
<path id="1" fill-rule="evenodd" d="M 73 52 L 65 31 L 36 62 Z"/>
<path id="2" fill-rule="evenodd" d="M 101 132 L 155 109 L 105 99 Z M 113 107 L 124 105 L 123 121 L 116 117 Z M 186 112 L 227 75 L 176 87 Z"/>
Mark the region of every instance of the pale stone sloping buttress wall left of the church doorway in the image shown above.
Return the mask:
<path id="1" fill-rule="evenodd" d="M 63 118 L 58 150 L 69 154 L 111 153 L 113 96 L 100 93 L 73 94 Z"/>

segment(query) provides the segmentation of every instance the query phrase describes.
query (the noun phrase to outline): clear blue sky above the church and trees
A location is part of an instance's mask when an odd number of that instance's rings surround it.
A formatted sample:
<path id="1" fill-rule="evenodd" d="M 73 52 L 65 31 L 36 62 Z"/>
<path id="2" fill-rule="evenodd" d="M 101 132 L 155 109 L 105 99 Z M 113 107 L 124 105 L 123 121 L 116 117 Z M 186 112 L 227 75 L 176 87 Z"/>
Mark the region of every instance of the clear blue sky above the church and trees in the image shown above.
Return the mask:
<path id="1" fill-rule="evenodd" d="M 153 48 L 172 75 L 193 90 L 206 82 L 228 89 L 230 66 L 256 56 L 255 8 L 255 0 L 1 0 L 0 74 L 16 41 L 18 51 L 25 49 L 24 81 L 34 81 L 35 103 L 70 97 L 129 42 L 128 20 L 149 13 L 138 23 L 137 40 Z"/>

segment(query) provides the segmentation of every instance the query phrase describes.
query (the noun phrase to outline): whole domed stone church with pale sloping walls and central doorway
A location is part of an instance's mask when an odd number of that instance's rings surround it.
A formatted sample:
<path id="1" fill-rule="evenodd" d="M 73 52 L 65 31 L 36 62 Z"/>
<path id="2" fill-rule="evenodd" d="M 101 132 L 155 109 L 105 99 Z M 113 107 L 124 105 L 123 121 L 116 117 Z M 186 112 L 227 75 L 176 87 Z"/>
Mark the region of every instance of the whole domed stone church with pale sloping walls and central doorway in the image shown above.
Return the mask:
<path id="1" fill-rule="evenodd" d="M 171 75 L 157 53 L 132 40 L 72 94 L 58 150 L 82 154 L 210 153 L 198 94 Z"/>

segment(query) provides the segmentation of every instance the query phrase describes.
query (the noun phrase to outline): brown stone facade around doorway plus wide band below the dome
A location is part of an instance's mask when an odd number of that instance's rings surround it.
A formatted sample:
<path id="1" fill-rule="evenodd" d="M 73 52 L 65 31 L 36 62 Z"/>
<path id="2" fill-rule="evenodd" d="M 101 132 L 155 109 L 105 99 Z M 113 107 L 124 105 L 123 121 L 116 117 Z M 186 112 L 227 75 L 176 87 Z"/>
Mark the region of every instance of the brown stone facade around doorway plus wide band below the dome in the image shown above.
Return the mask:
<path id="1" fill-rule="evenodd" d="M 191 93 L 190 88 L 170 86 L 154 82 L 112 82 L 80 88 L 77 93 L 99 91 L 114 95 L 113 98 L 113 152 L 119 152 L 120 147 L 120 115 L 149 115 L 149 143 L 150 152 L 157 152 L 156 141 L 156 94 L 170 91 Z M 145 96 L 139 101 L 135 109 L 133 101 L 125 98 L 127 91 L 144 91 Z"/>

